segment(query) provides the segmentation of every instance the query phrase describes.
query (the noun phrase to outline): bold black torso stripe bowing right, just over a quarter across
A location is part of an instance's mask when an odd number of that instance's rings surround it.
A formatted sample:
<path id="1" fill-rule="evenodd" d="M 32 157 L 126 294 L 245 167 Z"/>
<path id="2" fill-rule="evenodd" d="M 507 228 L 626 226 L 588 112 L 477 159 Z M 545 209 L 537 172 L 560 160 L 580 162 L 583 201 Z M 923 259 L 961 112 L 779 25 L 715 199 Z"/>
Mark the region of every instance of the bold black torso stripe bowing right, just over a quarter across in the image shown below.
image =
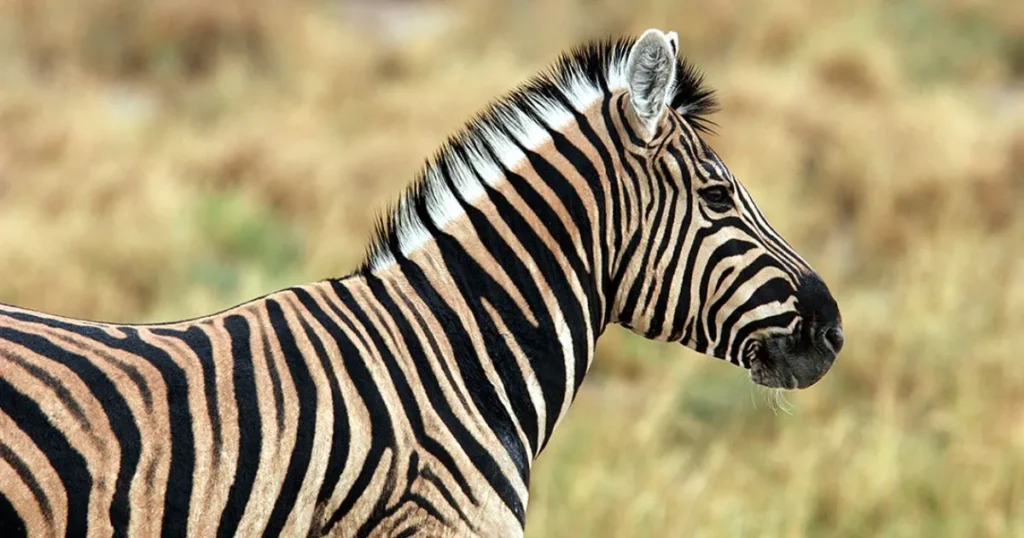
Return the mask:
<path id="1" fill-rule="evenodd" d="M 264 304 L 270 319 L 270 328 L 281 344 L 285 364 L 292 374 L 292 381 L 295 383 L 295 402 L 299 406 L 292 457 L 288 462 L 288 470 L 278 501 L 274 502 L 273 510 L 270 512 L 270 520 L 263 530 L 263 536 L 276 536 L 281 534 L 285 523 L 288 522 L 288 515 L 295 507 L 299 490 L 302 489 L 302 481 L 305 480 L 306 471 L 309 469 L 313 438 L 316 433 L 316 384 L 309 374 L 306 359 L 295 341 L 295 335 L 288 325 L 288 320 L 285 319 L 281 304 L 273 299 L 267 299 Z"/>

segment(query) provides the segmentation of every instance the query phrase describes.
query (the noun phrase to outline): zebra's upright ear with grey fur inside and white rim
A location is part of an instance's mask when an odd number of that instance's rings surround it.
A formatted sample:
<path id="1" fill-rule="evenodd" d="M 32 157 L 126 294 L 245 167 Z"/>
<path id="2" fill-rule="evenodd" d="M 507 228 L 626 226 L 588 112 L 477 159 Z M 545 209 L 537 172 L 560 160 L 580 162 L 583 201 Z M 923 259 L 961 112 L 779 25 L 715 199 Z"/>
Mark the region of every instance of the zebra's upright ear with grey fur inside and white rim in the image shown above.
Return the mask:
<path id="1" fill-rule="evenodd" d="M 626 60 L 626 80 L 630 100 L 637 117 L 654 133 L 657 122 L 671 104 L 670 92 L 676 84 L 676 49 L 679 37 L 659 30 L 648 30 L 637 39 Z"/>

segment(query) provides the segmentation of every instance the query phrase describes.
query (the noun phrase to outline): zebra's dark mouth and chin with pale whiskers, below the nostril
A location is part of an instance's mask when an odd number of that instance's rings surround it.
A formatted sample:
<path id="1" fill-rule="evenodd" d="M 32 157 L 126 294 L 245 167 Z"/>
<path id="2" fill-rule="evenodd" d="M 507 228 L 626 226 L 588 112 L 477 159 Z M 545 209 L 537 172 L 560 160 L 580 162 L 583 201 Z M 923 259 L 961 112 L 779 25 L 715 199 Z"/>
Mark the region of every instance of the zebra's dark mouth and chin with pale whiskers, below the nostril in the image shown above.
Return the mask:
<path id="1" fill-rule="evenodd" d="M 799 333 L 751 342 L 743 355 L 750 358 L 752 381 L 786 390 L 813 385 L 836 361 L 833 348 L 805 341 Z"/>

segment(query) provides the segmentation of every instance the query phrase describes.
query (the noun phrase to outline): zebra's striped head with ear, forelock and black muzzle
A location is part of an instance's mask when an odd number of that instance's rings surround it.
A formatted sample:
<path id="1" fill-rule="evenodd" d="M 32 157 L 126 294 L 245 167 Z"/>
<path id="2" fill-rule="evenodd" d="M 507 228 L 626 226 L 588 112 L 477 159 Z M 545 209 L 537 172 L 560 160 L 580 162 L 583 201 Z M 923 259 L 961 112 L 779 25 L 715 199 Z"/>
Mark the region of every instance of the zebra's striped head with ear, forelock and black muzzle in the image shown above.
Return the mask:
<path id="1" fill-rule="evenodd" d="M 624 169 L 640 179 L 640 221 L 613 318 L 748 368 L 756 383 L 809 386 L 843 347 L 839 307 L 701 139 L 711 92 L 677 43 L 674 32 L 647 31 L 621 74 L 623 138 L 634 142 Z"/>

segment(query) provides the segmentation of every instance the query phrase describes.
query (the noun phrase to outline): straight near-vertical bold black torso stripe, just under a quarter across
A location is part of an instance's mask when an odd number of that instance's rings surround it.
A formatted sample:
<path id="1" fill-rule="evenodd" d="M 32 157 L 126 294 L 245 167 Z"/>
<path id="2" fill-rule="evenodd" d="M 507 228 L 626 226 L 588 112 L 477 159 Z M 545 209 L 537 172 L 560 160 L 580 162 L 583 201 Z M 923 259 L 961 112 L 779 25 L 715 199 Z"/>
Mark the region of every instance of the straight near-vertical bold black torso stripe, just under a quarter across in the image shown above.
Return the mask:
<path id="1" fill-rule="evenodd" d="M 220 514 L 217 536 L 234 536 L 239 523 L 252 496 L 253 483 L 259 470 L 263 442 L 260 421 L 259 396 L 256 390 L 256 373 L 253 367 L 249 322 L 242 316 L 224 318 L 224 330 L 231 343 L 231 367 L 234 384 L 234 405 L 239 413 L 239 461 L 234 481 L 227 491 L 227 503 Z"/>

